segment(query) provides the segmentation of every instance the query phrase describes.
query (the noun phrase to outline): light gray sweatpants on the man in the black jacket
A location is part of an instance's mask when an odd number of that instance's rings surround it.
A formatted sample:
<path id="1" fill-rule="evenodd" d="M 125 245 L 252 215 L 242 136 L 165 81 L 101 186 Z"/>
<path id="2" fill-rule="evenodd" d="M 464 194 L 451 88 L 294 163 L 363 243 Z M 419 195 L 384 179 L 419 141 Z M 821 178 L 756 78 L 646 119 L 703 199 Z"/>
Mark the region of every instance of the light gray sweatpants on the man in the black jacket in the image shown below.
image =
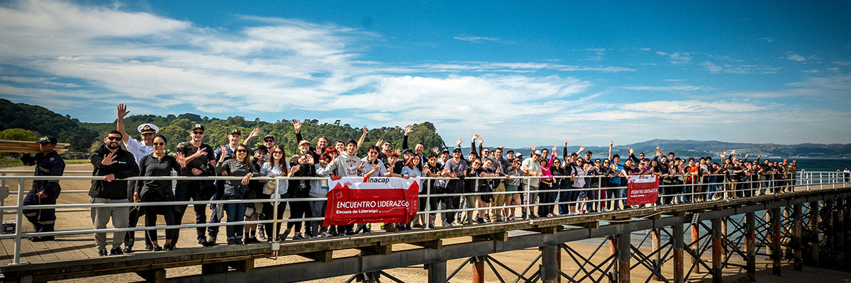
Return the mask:
<path id="1" fill-rule="evenodd" d="M 93 197 L 89 203 L 128 203 L 127 199 L 110 200 L 100 197 Z M 94 229 L 105 229 L 106 224 L 112 219 L 112 227 L 127 228 L 130 218 L 130 207 L 92 207 L 92 224 Z M 124 235 L 127 232 L 112 233 L 112 248 L 121 247 L 124 241 Z M 106 248 L 106 233 L 94 233 L 94 246 L 100 250 Z"/>

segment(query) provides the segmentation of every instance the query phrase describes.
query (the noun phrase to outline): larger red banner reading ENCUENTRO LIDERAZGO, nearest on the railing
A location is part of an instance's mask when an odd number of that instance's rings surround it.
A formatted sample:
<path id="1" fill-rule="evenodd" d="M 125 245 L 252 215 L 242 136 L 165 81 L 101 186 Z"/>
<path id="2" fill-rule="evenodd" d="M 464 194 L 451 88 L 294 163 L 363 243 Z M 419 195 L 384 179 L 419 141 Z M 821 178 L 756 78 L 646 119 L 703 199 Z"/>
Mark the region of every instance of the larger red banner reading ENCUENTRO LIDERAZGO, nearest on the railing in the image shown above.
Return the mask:
<path id="1" fill-rule="evenodd" d="M 328 180 L 323 225 L 408 223 L 417 213 L 420 178 L 343 177 Z"/>

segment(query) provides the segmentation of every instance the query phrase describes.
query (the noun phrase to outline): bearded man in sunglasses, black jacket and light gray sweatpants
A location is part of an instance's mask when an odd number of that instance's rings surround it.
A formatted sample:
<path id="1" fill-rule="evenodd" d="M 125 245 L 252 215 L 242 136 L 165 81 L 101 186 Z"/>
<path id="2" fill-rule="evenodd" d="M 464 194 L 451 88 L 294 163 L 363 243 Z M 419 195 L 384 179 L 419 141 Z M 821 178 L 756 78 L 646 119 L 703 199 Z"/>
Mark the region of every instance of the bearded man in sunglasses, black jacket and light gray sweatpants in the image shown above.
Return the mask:
<path id="1" fill-rule="evenodd" d="M 93 176 L 103 176 L 103 179 L 93 180 L 89 196 L 90 203 L 129 203 L 127 196 L 127 181 L 119 180 L 139 176 L 139 165 L 133 155 L 122 150 L 119 142 L 123 134 L 111 131 L 106 134 L 104 144 L 94 151 L 91 161 L 94 166 Z M 129 207 L 92 207 L 92 224 L 94 229 L 105 229 L 112 219 L 115 228 L 126 228 L 129 220 Z M 115 232 L 112 236 L 110 255 L 121 255 L 121 243 L 127 232 Z M 106 256 L 106 233 L 94 233 L 94 244 L 100 256 Z"/>

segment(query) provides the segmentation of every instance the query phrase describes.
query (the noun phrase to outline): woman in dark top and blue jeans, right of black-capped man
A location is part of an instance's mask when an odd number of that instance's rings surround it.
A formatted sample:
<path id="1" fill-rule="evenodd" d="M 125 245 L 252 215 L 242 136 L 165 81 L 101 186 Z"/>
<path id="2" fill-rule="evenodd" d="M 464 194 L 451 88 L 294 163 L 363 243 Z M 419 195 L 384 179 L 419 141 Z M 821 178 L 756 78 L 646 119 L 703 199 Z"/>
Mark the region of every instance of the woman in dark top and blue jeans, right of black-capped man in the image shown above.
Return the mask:
<path id="1" fill-rule="evenodd" d="M 222 152 L 226 152 L 224 145 L 221 147 Z M 248 189 L 248 178 L 254 175 L 260 175 L 257 169 L 251 166 L 251 161 L 248 156 L 248 146 L 245 144 L 237 144 L 236 157 L 225 160 L 225 155 L 219 157 L 219 162 L 215 165 L 215 173 L 220 174 L 227 172 L 228 176 L 243 176 L 239 180 L 227 180 L 225 184 L 222 200 L 241 200 L 243 192 Z M 237 222 L 245 216 L 245 205 L 242 203 L 226 203 L 224 212 L 227 212 L 227 222 Z M 243 225 L 227 225 L 227 244 L 242 245 L 243 244 Z"/>

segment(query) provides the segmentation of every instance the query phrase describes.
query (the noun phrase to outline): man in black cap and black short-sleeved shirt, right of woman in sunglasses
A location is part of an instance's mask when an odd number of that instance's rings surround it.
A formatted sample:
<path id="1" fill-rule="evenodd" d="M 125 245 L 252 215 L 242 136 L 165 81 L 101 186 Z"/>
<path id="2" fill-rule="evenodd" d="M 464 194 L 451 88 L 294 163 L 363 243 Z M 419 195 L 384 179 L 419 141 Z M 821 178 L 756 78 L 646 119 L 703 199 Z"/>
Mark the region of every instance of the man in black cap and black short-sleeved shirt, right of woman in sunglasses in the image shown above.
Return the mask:
<path id="1" fill-rule="evenodd" d="M 177 144 L 177 152 L 186 156 L 186 171 L 191 173 L 190 176 L 215 176 L 215 159 L 213 147 L 209 144 L 204 144 L 204 126 L 195 124 L 189 132 L 191 141 L 181 142 Z M 212 180 L 187 180 L 178 181 L 177 187 L 174 188 L 174 199 L 176 201 L 209 201 L 215 193 L 215 184 Z M 207 223 L 207 206 L 203 204 L 193 205 L 195 211 L 195 223 Z M 183 220 L 183 214 L 186 212 L 186 206 L 176 206 L 174 219 L 178 224 Z M 198 227 L 197 241 L 198 245 L 206 246 L 207 236 L 204 235 L 204 228 Z M 174 235 L 173 242 L 177 242 L 180 233 Z"/>

